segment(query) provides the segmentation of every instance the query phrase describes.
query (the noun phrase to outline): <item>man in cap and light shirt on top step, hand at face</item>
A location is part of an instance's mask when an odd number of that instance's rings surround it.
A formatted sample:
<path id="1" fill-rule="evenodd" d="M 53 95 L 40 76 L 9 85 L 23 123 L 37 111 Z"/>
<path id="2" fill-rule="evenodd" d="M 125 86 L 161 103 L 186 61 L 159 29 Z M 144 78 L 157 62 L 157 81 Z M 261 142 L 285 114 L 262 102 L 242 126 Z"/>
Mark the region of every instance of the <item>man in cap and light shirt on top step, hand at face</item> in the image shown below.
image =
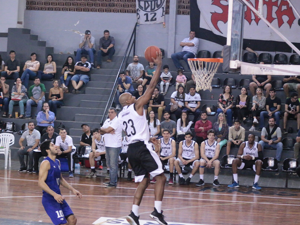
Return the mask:
<path id="1" fill-rule="evenodd" d="M 80 59 L 82 58 L 82 55 L 85 55 L 85 58 L 87 58 L 86 55 L 88 55 L 89 61 L 90 61 L 89 69 L 94 68 L 93 55 L 96 52 L 94 47 L 95 47 L 95 38 L 90 35 L 89 30 L 86 30 L 84 32 L 84 36 L 81 36 L 81 38 L 80 38 L 80 44 L 79 44 L 79 48 L 77 49 L 77 52 L 74 52 L 74 55 L 76 56 L 76 62 L 80 61 Z"/>

